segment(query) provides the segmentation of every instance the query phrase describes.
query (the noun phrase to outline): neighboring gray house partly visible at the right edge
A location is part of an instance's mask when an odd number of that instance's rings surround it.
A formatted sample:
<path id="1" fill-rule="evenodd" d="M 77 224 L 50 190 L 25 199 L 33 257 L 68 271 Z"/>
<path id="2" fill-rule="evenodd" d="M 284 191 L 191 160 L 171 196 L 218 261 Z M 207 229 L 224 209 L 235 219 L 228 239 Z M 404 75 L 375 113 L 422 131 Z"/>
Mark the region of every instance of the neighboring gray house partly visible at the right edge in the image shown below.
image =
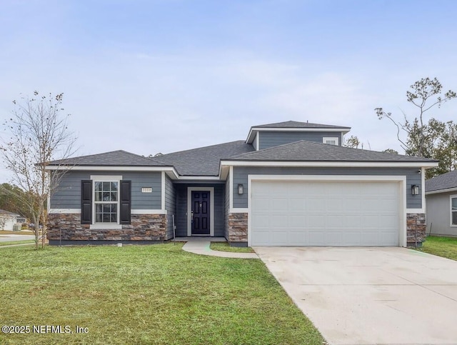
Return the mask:
<path id="1" fill-rule="evenodd" d="M 426 181 L 427 234 L 457 236 L 457 170 Z"/>

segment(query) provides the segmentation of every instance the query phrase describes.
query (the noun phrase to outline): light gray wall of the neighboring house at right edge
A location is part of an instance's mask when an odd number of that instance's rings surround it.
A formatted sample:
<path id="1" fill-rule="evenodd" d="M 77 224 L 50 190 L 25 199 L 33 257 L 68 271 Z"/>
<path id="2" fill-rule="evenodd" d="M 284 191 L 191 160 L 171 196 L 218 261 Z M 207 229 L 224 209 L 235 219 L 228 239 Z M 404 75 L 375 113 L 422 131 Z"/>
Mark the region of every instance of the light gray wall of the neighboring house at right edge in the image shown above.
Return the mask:
<path id="1" fill-rule="evenodd" d="M 427 234 L 457 236 L 457 226 L 451 226 L 451 195 L 457 195 L 457 192 L 426 196 Z"/>

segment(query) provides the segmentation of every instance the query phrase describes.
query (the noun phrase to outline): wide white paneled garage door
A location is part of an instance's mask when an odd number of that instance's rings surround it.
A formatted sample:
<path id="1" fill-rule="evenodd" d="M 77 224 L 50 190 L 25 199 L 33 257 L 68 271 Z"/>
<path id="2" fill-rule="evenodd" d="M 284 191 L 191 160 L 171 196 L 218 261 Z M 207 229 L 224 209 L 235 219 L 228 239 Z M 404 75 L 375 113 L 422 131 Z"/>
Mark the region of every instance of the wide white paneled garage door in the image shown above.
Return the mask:
<path id="1" fill-rule="evenodd" d="M 252 181 L 251 246 L 398 246 L 398 182 Z"/>

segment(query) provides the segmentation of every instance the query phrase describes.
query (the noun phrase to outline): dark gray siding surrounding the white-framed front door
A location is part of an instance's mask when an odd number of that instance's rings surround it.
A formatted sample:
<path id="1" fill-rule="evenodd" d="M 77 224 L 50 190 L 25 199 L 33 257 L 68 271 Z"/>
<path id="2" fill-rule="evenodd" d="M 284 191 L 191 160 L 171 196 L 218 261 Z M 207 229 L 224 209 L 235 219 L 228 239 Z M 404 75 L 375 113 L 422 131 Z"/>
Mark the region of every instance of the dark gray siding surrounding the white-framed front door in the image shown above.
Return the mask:
<path id="1" fill-rule="evenodd" d="M 214 187 L 214 236 L 224 236 L 225 184 L 176 184 L 176 236 L 187 236 L 187 187 Z"/>

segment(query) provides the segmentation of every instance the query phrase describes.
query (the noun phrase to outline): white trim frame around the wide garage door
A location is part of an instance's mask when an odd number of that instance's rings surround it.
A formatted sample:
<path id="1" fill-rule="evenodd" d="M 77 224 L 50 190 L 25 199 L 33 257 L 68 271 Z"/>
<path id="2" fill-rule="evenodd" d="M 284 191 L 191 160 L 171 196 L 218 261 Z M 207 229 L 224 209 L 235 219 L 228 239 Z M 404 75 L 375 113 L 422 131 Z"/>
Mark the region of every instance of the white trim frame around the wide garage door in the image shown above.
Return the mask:
<path id="1" fill-rule="evenodd" d="M 303 182 L 398 182 L 398 244 L 406 247 L 406 176 L 369 175 L 248 175 L 248 246 L 251 246 L 251 186 L 253 181 L 303 181 Z"/>

